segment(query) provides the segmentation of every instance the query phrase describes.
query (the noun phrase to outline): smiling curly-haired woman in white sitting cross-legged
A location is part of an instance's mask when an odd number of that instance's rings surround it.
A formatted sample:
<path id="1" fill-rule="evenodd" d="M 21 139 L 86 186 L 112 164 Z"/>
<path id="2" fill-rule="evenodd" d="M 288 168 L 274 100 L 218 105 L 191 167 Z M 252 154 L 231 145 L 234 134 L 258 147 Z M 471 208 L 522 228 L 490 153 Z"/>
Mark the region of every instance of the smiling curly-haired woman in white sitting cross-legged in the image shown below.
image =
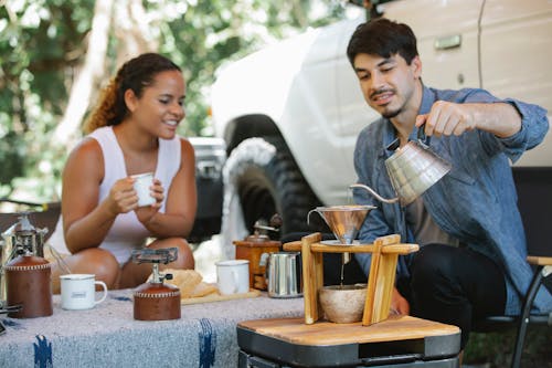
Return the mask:
<path id="1" fill-rule="evenodd" d="M 95 274 L 109 288 L 137 286 L 151 264 L 132 263 L 131 251 L 150 238 L 149 249 L 178 248 L 164 267 L 194 267 L 184 240 L 197 208 L 194 153 L 177 135 L 184 97 L 180 67 L 156 53 L 125 63 L 103 92 L 85 123 L 88 135 L 67 159 L 63 221 L 50 240 L 72 273 Z M 138 207 L 131 176 L 149 171 L 156 202 Z M 53 264 L 55 293 L 62 270 Z"/>

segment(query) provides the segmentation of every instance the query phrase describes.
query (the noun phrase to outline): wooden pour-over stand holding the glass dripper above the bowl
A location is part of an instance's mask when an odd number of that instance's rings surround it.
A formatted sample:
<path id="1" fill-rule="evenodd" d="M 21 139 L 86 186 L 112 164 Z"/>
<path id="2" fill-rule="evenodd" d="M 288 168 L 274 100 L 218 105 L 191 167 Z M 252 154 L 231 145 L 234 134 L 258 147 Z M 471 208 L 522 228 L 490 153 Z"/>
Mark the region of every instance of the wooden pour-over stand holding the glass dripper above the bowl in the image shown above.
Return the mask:
<path id="1" fill-rule="evenodd" d="M 362 325 L 386 319 L 399 255 L 416 252 L 418 245 L 400 243 L 397 234 L 378 238 L 373 244 L 329 245 L 320 243 L 320 233 L 312 233 L 300 241 L 284 244 L 286 251 L 301 252 L 305 323 L 311 325 L 322 314 L 318 304 L 318 291 L 323 286 L 322 253 L 372 253 Z"/>

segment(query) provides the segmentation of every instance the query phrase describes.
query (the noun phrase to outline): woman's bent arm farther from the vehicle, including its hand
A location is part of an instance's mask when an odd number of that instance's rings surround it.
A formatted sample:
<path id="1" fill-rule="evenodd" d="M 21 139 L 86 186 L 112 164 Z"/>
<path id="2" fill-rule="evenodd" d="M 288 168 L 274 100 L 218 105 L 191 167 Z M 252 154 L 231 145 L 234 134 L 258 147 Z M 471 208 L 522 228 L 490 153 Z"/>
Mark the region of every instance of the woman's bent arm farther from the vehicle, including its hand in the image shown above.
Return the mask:
<path id="1" fill-rule="evenodd" d="M 85 139 L 70 155 L 63 172 L 62 215 L 65 243 L 72 253 L 98 246 L 118 213 L 136 207 L 132 181 L 117 181 L 98 204 L 104 157 L 95 139 Z"/>

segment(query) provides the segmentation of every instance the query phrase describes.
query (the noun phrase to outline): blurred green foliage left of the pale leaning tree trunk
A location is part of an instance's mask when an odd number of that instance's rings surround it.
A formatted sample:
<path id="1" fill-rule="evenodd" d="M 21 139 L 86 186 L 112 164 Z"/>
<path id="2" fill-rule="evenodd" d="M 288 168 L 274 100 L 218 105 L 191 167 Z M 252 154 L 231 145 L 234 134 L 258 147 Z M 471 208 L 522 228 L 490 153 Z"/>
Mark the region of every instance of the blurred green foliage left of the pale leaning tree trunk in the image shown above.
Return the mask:
<path id="1" fill-rule="evenodd" d="M 86 51 L 93 0 L 7 1 L 0 8 L 0 196 L 38 180 L 38 200 L 53 198 L 59 155 L 50 136 L 63 115 L 67 75 Z M 87 9 L 86 12 L 74 9 Z"/>

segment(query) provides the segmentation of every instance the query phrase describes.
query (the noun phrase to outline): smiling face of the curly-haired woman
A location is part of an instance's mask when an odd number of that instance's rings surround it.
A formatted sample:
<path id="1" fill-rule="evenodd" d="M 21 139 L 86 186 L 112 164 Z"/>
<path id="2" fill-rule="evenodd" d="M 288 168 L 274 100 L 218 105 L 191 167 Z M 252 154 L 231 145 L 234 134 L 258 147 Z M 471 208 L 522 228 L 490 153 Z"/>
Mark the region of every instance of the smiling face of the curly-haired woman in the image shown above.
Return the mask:
<path id="1" fill-rule="evenodd" d="M 160 72 L 144 88 L 140 98 L 130 90 L 126 92 L 126 97 L 131 120 L 160 138 L 174 137 L 178 125 L 185 116 L 185 83 L 181 72 Z"/>

